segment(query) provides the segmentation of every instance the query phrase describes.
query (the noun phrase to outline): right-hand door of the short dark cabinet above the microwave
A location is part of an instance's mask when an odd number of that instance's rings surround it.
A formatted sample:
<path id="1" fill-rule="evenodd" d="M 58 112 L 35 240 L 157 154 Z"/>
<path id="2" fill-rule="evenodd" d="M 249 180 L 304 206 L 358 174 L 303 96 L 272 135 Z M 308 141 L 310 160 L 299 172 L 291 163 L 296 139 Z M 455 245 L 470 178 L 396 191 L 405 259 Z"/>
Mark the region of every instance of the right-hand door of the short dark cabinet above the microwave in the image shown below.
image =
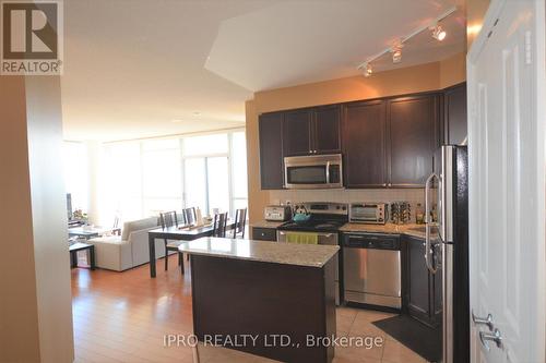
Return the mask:
<path id="1" fill-rule="evenodd" d="M 313 154 L 341 153 L 341 107 L 324 106 L 314 110 Z"/>

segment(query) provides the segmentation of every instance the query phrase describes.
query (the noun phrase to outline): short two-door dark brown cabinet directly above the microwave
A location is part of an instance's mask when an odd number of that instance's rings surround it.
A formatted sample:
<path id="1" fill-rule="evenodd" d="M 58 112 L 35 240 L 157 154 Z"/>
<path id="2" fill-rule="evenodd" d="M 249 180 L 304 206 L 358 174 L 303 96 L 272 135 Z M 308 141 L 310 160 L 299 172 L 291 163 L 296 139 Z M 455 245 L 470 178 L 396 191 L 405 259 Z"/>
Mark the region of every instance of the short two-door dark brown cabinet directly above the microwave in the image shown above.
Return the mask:
<path id="1" fill-rule="evenodd" d="M 341 153 L 340 120 L 339 105 L 286 111 L 283 124 L 284 155 Z"/>

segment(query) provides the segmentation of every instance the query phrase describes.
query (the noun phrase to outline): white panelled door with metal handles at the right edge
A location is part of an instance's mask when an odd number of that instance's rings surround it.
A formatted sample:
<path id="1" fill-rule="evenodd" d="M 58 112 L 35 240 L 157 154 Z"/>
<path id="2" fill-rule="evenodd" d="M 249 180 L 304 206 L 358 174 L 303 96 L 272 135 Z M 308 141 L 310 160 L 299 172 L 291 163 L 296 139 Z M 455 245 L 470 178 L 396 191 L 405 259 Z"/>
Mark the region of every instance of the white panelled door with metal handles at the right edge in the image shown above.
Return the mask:
<path id="1" fill-rule="evenodd" d="M 492 1 L 468 53 L 473 362 L 545 362 L 544 12 Z"/>

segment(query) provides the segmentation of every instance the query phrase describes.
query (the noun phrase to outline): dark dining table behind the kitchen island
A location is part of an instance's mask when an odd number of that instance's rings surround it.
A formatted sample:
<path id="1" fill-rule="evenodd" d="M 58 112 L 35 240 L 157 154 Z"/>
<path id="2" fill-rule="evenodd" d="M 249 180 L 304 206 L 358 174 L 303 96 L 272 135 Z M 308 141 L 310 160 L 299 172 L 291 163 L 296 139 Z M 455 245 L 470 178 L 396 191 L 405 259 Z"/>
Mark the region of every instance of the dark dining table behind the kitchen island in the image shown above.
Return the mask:
<path id="1" fill-rule="evenodd" d="M 226 231 L 235 228 L 235 221 L 228 220 L 226 225 Z M 147 244 L 150 249 L 150 277 L 155 278 L 156 276 L 156 266 L 155 266 L 155 240 L 175 240 L 175 241 L 193 241 L 203 237 L 212 237 L 214 232 L 214 226 L 205 225 L 205 226 L 173 226 L 166 228 L 156 228 L 152 229 L 147 232 Z M 183 270 L 183 259 L 182 259 L 182 268 Z"/>

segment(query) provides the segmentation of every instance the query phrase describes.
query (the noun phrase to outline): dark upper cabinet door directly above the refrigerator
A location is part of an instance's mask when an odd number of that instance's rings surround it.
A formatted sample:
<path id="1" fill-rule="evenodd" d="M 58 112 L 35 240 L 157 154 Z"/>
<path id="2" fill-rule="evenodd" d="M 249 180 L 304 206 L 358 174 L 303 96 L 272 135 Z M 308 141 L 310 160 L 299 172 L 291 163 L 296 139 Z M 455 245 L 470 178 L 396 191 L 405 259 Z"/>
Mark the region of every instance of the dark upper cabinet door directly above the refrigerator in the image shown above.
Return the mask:
<path id="1" fill-rule="evenodd" d="M 467 135 L 466 83 L 444 90 L 443 120 L 444 144 L 460 145 Z"/>

